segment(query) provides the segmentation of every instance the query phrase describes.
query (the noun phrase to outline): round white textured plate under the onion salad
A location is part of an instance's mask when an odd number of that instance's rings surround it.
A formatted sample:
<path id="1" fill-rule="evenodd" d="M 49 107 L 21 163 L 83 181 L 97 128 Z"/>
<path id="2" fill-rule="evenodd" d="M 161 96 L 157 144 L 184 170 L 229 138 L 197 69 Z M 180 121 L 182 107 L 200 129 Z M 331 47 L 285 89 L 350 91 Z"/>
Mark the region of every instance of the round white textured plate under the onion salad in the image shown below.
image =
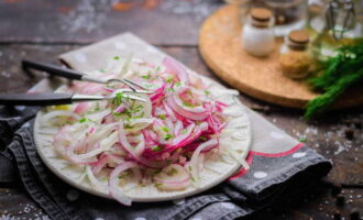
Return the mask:
<path id="1" fill-rule="evenodd" d="M 210 82 L 213 89 L 224 90 L 219 84 L 202 77 L 204 80 Z M 246 109 L 241 105 L 237 97 L 231 95 L 222 96 L 223 102 L 231 105 L 227 112 L 231 113 L 232 119 L 229 121 L 227 128 L 221 134 L 221 145 L 228 145 L 239 152 L 235 157 L 240 161 L 245 160 L 251 143 L 251 125 Z M 235 111 L 238 110 L 238 111 Z M 237 113 L 238 112 L 238 113 Z M 82 178 L 85 168 L 76 165 L 72 165 L 66 160 L 59 157 L 53 147 L 53 135 L 48 134 L 51 129 L 40 123 L 41 117 L 44 111 L 40 111 L 35 118 L 34 123 L 34 140 L 38 155 L 45 163 L 45 165 L 61 179 L 69 185 L 105 198 L 112 198 L 107 189 L 101 189 L 92 186 L 88 178 Z M 201 172 L 201 182 L 199 187 L 190 186 L 180 191 L 161 191 L 154 185 L 138 186 L 130 190 L 124 190 L 124 194 L 133 201 L 146 202 L 146 201 L 165 201 L 182 199 L 201 191 L 205 191 L 227 178 L 233 175 L 240 167 L 241 163 L 231 156 L 223 156 L 219 158 L 205 158 L 205 167 Z M 122 188 L 120 188 L 123 190 Z"/>

